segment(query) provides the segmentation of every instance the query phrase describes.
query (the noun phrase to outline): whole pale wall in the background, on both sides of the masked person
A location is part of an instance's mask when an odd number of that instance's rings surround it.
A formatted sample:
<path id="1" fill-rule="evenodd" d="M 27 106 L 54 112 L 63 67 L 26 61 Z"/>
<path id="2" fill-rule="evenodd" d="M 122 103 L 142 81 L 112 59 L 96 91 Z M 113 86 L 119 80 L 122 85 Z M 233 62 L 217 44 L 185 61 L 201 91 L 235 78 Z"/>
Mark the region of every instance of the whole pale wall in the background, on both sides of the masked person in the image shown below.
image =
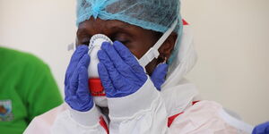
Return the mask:
<path id="1" fill-rule="evenodd" d="M 74 11 L 74 0 L 0 0 L 0 44 L 38 55 L 62 93 Z M 194 28 L 199 54 L 188 78 L 202 96 L 252 124 L 268 121 L 269 1 L 184 0 L 182 13 Z"/>

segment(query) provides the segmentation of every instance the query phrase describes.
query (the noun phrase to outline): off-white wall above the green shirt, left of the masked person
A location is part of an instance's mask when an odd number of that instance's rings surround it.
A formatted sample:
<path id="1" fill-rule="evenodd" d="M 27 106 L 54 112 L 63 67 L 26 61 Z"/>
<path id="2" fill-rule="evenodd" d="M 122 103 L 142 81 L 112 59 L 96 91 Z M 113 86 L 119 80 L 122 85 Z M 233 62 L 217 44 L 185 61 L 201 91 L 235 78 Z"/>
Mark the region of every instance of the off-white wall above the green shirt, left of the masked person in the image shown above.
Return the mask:
<path id="1" fill-rule="evenodd" d="M 64 91 L 75 38 L 74 0 L 0 0 L 0 45 L 38 55 Z"/>

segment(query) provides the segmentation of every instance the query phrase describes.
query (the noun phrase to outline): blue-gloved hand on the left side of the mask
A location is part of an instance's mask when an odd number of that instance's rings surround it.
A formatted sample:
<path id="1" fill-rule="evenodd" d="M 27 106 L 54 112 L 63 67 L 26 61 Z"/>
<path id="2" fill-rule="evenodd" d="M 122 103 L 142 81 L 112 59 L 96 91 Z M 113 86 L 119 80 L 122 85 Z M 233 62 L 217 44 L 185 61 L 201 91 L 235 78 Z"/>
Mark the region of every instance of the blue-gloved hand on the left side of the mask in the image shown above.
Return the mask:
<path id="1" fill-rule="evenodd" d="M 65 102 L 80 112 L 89 111 L 93 106 L 88 85 L 88 51 L 88 46 L 78 46 L 65 72 Z"/>

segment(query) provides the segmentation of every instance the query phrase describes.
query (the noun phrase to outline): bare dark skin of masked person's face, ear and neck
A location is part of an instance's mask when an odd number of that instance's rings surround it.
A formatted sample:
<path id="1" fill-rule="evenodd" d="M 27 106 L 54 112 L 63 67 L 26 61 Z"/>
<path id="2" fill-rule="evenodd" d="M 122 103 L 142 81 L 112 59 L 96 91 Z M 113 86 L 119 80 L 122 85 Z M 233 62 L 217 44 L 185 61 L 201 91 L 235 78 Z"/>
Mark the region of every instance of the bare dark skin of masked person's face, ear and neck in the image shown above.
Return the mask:
<path id="1" fill-rule="evenodd" d="M 161 33 L 149 29 L 143 29 L 123 21 L 103 21 L 99 18 L 83 21 L 77 30 L 76 46 L 89 45 L 90 39 L 95 34 L 104 34 L 112 41 L 120 41 L 132 54 L 140 59 L 157 41 Z M 154 59 L 145 68 L 148 74 L 152 74 L 155 67 L 169 59 L 175 46 L 177 34 L 172 33 L 159 48 L 160 56 Z"/>

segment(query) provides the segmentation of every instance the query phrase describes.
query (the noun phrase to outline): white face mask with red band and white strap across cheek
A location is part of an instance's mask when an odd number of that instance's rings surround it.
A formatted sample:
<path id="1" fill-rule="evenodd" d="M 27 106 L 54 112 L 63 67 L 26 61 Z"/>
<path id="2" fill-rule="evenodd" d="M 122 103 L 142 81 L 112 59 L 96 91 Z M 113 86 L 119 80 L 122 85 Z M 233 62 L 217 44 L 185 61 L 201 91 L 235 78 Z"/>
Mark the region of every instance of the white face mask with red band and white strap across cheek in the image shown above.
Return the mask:
<path id="1" fill-rule="evenodd" d="M 168 29 L 162 37 L 157 41 L 157 43 L 150 48 L 147 53 L 143 54 L 142 58 L 138 60 L 140 65 L 143 68 L 154 58 L 158 58 L 159 56 L 159 47 L 163 44 L 166 38 L 169 37 L 171 32 L 176 28 L 178 21 L 175 21 L 171 28 Z M 89 86 L 91 96 L 93 96 L 93 100 L 96 105 L 101 107 L 108 107 L 108 100 L 104 91 L 104 88 L 101 85 L 100 77 L 98 74 L 98 63 L 100 62 L 97 56 L 98 51 L 100 50 L 100 46 L 103 42 L 109 42 L 111 45 L 113 42 L 107 36 L 102 34 L 96 34 L 91 37 L 90 44 L 89 44 L 89 55 L 91 57 L 91 63 L 88 68 L 89 74 Z M 135 56 L 134 56 L 135 57 Z M 136 57 L 135 57 L 136 58 Z M 137 58 L 136 58 L 137 59 Z"/>

